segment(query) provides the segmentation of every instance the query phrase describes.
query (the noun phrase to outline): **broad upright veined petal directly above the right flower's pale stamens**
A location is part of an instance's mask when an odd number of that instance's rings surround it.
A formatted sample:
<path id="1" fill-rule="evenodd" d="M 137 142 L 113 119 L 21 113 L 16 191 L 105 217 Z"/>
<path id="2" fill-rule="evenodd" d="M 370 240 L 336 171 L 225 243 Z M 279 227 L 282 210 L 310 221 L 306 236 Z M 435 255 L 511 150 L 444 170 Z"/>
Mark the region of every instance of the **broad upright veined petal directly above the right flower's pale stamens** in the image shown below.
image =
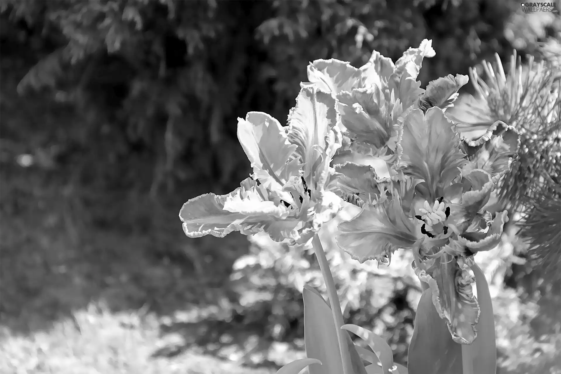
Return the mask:
<path id="1" fill-rule="evenodd" d="M 458 167 L 465 163 L 452 123 L 440 108 L 430 108 L 425 114 L 421 109 L 413 109 L 404 119 L 399 137 L 403 172 L 424 179 L 418 190 L 425 200 L 436 200 L 442 196 L 444 184 L 456 177 Z"/>

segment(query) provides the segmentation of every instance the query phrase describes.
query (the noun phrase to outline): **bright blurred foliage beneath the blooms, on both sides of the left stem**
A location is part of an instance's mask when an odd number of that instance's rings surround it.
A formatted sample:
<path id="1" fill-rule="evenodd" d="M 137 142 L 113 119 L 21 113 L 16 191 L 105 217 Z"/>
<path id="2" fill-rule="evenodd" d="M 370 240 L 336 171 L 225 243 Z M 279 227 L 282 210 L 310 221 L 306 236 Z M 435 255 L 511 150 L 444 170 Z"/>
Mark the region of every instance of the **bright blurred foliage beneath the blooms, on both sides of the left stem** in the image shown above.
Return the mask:
<path id="1" fill-rule="evenodd" d="M 339 249 L 330 234 L 337 224 L 357 214 L 349 204 L 320 232 L 339 300 L 347 323 L 366 327 L 384 336 L 398 362 L 407 360 L 407 343 L 413 333 L 413 320 L 421 287 L 411 267 L 412 253 L 399 251 L 390 266 L 367 261 L 359 264 Z M 234 263 L 231 281 L 245 295 L 240 304 L 246 310 L 272 305 L 269 329 L 278 337 L 293 333 L 290 324 L 302 318 L 301 290 L 305 284 L 327 294 L 313 250 L 272 241 L 266 234 L 250 239 L 250 253 Z M 297 297 L 295 297 L 295 294 Z M 304 326 L 296 324 L 301 330 Z M 274 336 L 274 335 L 273 335 Z M 275 337 L 276 338 L 276 337 Z M 357 343 L 361 339 L 356 339 Z M 364 343 L 364 342 L 362 342 Z M 361 343 L 358 343 L 361 344 Z M 365 347 L 366 348 L 366 347 Z"/>

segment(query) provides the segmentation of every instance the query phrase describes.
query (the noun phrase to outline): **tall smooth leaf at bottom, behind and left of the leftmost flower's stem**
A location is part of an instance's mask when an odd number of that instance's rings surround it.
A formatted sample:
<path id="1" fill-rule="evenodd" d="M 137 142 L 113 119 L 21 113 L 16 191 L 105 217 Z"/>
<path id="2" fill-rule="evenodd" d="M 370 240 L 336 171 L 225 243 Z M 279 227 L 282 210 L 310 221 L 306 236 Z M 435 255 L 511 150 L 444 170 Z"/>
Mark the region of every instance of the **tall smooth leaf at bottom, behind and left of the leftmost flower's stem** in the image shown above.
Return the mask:
<path id="1" fill-rule="evenodd" d="M 304 287 L 304 340 L 306 356 L 321 361 L 322 365 L 309 367 L 310 374 L 341 374 L 343 362 L 333 315 L 325 299 Z"/>

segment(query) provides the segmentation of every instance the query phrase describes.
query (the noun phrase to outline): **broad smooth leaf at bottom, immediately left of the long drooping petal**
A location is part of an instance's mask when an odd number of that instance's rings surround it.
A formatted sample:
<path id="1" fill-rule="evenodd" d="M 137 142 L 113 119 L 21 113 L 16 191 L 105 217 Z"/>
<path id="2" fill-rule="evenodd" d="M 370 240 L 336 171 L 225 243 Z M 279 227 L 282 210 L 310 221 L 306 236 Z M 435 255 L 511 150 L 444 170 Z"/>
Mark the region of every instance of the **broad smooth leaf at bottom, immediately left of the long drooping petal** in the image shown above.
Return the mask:
<path id="1" fill-rule="evenodd" d="M 436 312 L 430 289 L 417 306 L 407 366 L 409 374 L 462 374 L 462 347 Z"/>

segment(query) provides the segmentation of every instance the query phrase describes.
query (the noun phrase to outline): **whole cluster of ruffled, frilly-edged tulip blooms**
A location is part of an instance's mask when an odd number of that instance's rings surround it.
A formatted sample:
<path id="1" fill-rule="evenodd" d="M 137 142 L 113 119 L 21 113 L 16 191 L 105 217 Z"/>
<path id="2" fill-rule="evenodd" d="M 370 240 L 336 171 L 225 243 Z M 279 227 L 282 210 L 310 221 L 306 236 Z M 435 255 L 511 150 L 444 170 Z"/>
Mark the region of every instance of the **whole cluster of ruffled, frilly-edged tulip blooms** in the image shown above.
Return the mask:
<path id="1" fill-rule="evenodd" d="M 471 344 L 480 318 L 473 256 L 493 249 L 508 221 L 506 211 L 485 208 L 519 139 L 500 121 L 481 136 L 461 136 L 446 110 L 468 77 L 422 89 L 422 60 L 434 53 L 423 40 L 396 63 L 376 51 L 360 68 L 310 63 L 287 126 L 260 112 L 238 119 L 253 173 L 228 195 L 187 201 L 180 212 L 187 236 L 264 231 L 306 244 L 343 206 L 357 205 L 360 213 L 333 233 L 338 246 L 360 262 L 389 263 L 394 251 L 411 250 L 450 336 Z"/>

